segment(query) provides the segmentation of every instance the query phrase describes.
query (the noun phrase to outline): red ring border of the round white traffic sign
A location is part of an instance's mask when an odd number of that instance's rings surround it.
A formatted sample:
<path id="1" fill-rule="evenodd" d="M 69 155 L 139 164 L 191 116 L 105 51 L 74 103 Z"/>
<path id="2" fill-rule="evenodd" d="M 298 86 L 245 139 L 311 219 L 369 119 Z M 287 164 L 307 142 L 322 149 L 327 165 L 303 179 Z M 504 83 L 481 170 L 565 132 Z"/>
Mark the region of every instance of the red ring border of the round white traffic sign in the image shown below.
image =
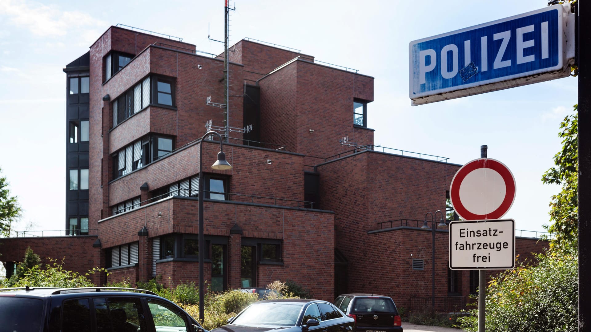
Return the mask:
<path id="1" fill-rule="evenodd" d="M 462 185 L 462 181 L 470 172 L 479 168 L 495 170 L 501 175 L 501 178 L 505 182 L 505 198 L 495 211 L 489 212 L 488 214 L 475 214 L 470 212 L 460 200 L 460 185 Z M 511 205 L 513 205 L 515 199 L 515 178 L 513 177 L 511 170 L 498 160 L 490 158 L 475 159 L 457 170 L 456 175 L 453 176 L 449 192 L 454 211 L 456 211 L 457 215 L 463 220 L 500 219 L 507 213 L 507 211 L 509 211 Z"/>

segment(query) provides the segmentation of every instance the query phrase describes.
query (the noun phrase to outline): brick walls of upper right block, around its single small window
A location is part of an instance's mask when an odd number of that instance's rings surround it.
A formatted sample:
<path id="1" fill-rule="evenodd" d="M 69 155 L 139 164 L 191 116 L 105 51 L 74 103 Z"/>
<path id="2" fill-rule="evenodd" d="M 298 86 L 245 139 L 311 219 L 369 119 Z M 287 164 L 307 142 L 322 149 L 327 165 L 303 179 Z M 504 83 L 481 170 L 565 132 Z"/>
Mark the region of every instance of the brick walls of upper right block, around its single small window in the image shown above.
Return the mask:
<path id="1" fill-rule="evenodd" d="M 345 136 L 374 143 L 372 130 L 353 127 L 353 98 L 372 101 L 373 78 L 298 60 L 258 83 L 261 140 L 323 158 L 351 150 L 339 143 Z"/>

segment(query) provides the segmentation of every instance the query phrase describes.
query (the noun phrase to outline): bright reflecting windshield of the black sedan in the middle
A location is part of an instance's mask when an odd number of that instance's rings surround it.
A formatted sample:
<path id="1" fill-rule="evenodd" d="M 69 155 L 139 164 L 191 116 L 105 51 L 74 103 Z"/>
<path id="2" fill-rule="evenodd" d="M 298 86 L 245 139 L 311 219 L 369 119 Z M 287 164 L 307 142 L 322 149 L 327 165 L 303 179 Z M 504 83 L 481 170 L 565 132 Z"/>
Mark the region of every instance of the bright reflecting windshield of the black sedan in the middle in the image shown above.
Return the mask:
<path id="1" fill-rule="evenodd" d="M 246 308 L 232 324 L 236 325 L 281 325 L 296 326 L 300 315 L 301 304 L 293 303 L 259 303 Z"/>

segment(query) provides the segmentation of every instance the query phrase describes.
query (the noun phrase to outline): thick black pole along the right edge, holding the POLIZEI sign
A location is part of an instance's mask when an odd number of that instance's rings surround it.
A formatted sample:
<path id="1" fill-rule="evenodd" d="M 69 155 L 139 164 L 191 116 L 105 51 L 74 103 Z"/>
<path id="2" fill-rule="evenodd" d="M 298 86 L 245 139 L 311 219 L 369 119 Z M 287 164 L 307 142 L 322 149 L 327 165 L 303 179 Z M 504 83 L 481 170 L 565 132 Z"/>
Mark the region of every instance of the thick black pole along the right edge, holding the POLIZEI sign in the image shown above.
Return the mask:
<path id="1" fill-rule="evenodd" d="M 582 2 L 582 3 L 581 3 Z M 577 1 L 576 27 L 579 66 L 579 331 L 589 331 L 591 322 L 591 262 L 589 238 L 591 237 L 591 3 Z"/>

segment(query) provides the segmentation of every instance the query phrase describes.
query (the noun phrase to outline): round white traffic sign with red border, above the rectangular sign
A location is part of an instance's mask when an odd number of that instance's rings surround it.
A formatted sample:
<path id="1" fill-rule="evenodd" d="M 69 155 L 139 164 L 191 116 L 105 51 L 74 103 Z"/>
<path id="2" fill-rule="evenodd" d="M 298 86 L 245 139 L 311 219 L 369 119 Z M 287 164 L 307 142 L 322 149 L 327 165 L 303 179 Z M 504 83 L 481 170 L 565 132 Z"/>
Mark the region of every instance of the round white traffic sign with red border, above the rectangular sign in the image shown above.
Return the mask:
<path id="1" fill-rule="evenodd" d="M 475 159 L 457 170 L 449 193 L 462 219 L 500 219 L 515 199 L 515 178 L 498 160 Z"/>

